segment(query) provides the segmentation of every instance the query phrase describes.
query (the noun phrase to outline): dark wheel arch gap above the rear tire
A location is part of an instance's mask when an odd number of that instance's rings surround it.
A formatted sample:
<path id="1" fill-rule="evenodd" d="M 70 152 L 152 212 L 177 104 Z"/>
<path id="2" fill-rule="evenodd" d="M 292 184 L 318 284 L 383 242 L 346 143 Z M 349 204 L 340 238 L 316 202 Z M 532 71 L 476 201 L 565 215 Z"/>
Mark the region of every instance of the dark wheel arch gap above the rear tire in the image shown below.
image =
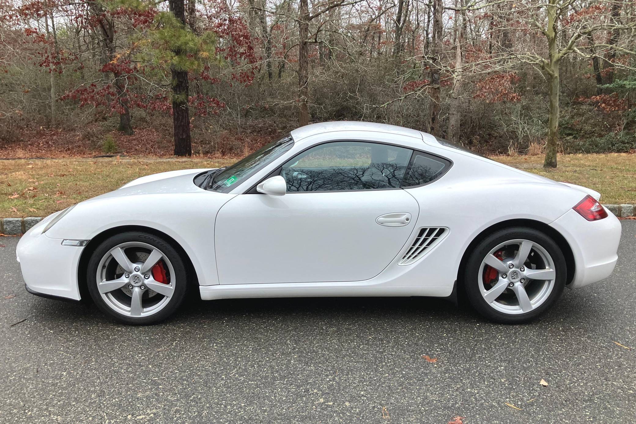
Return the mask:
<path id="1" fill-rule="evenodd" d="M 459 290 L 463 288 L 464 285 L 464 269 L 466 269 L 466 262 L 470 257 L 471 252 L 474 250 L 475 246 L 486 236 L 492 234 L 497 230 L 501 230 L 508 227 L 529 227 L 531 229 L 535 229 L 543 232 L 546 236 L 551 237 L 555 243 L 559 246 L 561 251 L 563 252 L 563 257 L 565 257 L 565 268 L 567 272 L 567 277 L 565 279 L 565 285 L 568 285 L 574 279 L 574 253 L 572 253 L 572 248 L 570 248 L 570 244 L 567 243 L 565 237 L 561 235 L 560 232 L 550 227 L 550 225 L 543 223 L 541 221 L 536 220 L 527 220 L 527 219 L 515 219 L 515 220 L 507 220 L 495 223 L 494 225 L 490 225 L 487 229 L 483 230 L 478 234 L 471 243 L 468 244 L 466 250 L 464 250 L 464 255 L 462 255 L 462 260 L 459 262 L 459 268 L 457 269 L 457 288 L 456 292 L 462 293 L 463 290 Z"/>

